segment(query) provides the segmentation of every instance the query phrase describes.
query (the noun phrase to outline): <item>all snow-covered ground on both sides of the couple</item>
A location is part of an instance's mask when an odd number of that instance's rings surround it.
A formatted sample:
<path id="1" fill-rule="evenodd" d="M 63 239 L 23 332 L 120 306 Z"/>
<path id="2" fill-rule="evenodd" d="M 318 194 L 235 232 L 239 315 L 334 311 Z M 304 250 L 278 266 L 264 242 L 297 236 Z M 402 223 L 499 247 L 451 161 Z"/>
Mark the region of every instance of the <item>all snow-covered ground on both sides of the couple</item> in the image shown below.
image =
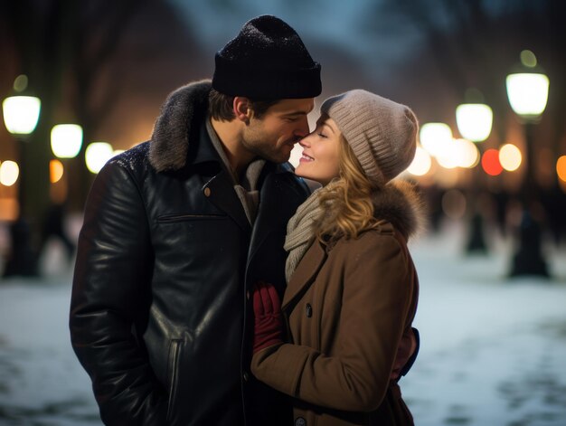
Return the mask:
<path id="1" fill-rule="evenodd" d="M 410 245 L 422 342 L 401 390 L 415 423 L 566 425 L 566 253 L 550 252 L 552 281 L 508 280 L 509 241 L 466 257 L 462 231 Z M 0 281 L 0 425 L 100 425 L 69 342 L 71 272 L 56 245 L 48 257 L 47 278 Z"/>

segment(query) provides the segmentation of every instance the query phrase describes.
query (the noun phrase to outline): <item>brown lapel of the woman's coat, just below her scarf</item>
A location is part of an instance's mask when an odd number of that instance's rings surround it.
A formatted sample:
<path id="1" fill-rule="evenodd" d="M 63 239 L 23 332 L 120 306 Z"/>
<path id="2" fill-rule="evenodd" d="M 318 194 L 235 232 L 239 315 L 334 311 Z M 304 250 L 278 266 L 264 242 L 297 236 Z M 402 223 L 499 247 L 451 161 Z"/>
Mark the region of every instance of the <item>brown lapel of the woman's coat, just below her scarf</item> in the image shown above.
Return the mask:
<path id="1" fill-rule="evenodd" d="M 316 279 L 318 271 L 325 264 L 326 257 L 324 246 L 320 241 L 315 240 L 298 263 L 297 269 L 288 283 L 281 305 L 282 310 L 285 310 L 308 289 L 313 280 Z"/>

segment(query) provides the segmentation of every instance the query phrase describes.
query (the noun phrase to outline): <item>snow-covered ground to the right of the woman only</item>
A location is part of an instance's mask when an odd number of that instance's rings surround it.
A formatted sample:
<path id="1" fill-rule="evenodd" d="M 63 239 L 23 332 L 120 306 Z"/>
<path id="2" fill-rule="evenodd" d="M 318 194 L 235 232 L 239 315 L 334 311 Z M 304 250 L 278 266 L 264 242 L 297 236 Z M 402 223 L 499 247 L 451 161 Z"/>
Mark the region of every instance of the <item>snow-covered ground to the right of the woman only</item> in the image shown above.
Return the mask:
<path id="1" fill-rule="evenodd" d="M 417 425 L 566 425 L 566 253 L 552 282 L 507 280 L 501 244 L 464 258 L 455 232 L 411 248 L 422 346 L 401 390 Z"/>

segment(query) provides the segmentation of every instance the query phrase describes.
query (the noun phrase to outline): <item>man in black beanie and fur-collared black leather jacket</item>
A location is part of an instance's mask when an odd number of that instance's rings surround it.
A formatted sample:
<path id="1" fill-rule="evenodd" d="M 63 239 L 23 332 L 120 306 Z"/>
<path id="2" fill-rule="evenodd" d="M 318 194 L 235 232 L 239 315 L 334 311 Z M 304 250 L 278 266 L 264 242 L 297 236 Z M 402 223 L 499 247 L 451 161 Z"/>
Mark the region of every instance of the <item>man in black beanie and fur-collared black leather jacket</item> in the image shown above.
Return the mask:
<path id="1" fill-rule="evenodd" d="M 320 65 L 274 16 L 216 53 L 210 81 L 165 101 L 151 140 L 116 156 L 86 204 L 71 342 L 111 425 L 272 425 L 283 396 L 249 373 L 259 280 L 285 286 L 288 161 Z"/>

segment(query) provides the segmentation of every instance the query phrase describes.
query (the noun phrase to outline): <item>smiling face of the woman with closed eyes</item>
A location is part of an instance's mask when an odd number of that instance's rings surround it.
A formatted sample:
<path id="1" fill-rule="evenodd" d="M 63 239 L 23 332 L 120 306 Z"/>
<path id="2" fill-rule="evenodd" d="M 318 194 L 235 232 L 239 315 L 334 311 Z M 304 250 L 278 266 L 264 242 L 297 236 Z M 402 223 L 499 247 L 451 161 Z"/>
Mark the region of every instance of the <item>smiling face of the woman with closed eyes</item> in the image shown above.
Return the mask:
<path id="1" fill-rule="evenodd" d="M 335 121 L 323 114 L 316 121 L 315 130 L 298 143 L 303 155 L 295 169 L 300 177 L 328 184 L 340 174 L 341 132 Z"/>

